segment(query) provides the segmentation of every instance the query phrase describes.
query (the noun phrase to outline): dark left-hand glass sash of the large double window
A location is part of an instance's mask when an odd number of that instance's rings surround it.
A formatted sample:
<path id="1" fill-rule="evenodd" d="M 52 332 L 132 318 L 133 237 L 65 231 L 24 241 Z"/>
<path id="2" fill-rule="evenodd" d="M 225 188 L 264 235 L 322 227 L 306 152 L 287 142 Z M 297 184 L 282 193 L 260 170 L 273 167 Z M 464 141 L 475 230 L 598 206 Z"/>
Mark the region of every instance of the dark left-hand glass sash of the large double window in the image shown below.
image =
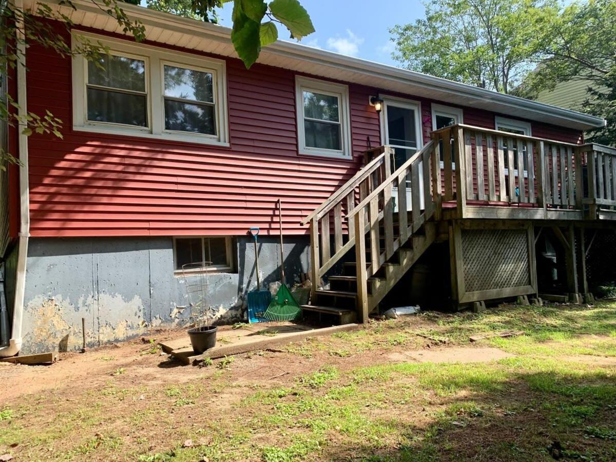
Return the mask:
<path id="1" fill-rule="evenodd" d="M 145 60 L 102 55 L 87 63 L 87 120 L 148 126 Z"/>

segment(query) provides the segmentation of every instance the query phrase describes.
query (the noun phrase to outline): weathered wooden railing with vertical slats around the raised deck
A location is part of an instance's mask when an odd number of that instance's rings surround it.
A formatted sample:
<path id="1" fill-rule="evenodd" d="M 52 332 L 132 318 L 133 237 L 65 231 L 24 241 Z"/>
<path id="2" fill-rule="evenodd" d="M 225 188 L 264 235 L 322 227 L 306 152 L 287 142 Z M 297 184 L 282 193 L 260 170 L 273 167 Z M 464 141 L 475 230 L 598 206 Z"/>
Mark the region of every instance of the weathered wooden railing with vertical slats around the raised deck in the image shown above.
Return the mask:
<path id="1" fill-rule="evenodd" d="M 432 188 L 443 201 L 456 201 L 461 217 L 468 205 L 515 203 L 578 212 L 584 205 L 616 206 L 614 148 L 463 124 L 432 132 L 432 140 L 443 166 Z"/>

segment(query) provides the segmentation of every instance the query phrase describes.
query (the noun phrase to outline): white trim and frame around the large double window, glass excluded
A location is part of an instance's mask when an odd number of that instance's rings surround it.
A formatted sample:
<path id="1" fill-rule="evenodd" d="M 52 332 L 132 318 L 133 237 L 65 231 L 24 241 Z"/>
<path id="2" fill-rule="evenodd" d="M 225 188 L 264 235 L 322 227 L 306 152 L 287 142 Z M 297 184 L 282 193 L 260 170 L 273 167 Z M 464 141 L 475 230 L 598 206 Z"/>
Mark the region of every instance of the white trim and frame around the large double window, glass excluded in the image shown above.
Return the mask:
<path id="1" fill-rule="evenodd" d="M 132 127 L 123 124 L 88 121 L 86 107 L 87 60 L 82 55 L 75 55 L 73 56 L 72 65 L 73 130 L 229 147 L 227 71 L 224 60 L 201 57 L 179 51 L 168 51 L 160 47 L 131 43 L 126 40 L 109 38 L 83 31 L 73 33 L 73 48 L 78 45 L 79 38 L 81 37 L 94 42 L 100 42 L 103 46 L 107 46 L 110 49 L 111 54 L 145 60 L 145 87 L 148 93 L 148 127 Z M 179 67 L 206 71 L 213 75 L 216 136 L 164 129 L 164 62 Z"/>

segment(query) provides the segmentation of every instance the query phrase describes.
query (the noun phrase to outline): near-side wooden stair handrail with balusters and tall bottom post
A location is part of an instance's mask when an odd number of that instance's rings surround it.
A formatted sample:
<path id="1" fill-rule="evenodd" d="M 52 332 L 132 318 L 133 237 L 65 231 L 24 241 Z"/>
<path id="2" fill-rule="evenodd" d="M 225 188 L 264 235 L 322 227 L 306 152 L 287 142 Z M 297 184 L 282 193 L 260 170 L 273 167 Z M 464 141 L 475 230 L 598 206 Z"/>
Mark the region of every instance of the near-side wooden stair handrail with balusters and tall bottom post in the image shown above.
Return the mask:
<path id="1" fill-rule="evenodd" d="M 436 162 L 435 143 L 430 140 L 410 159 L 369 193 L 347 217 L 353 223 L 355 244 L 355 281 L 357 283 L 357 309 L 362 322 L 368 320 L 368 278 L 388 261 L 436 210 L 431 192 L 431 168 Z M 423 172 L 419 164 L 423 163 Z M 411 181 L 411 224 L 408 224 L 407 175 Z M 421 210 L 421 178 L 423 179 L 424 209 Z M 394 238 L 394 205 L 392 188 L 397 182 L 399 237 Z M 381 198 L 381 195 L 383 197 Z M 368 207 L 367 210 L 365 210 Z M 381 211 L 379 211 L 381 208 Z M 402 213 L 402 211 L 404 213 Z M 385 249 L 381 253 L 379 222 L 383 220 Z M 370 264 L 367 264 L 366 234 L 370 235 Z"/>

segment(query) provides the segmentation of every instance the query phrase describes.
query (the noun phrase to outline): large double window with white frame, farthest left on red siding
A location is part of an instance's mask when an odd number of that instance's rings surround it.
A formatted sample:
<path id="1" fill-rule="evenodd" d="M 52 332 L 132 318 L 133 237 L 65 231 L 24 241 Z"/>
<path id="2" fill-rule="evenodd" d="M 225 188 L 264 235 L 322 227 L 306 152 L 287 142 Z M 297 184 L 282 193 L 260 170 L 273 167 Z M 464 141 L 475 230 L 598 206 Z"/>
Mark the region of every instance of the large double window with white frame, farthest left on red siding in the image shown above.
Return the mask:
<path id="1" fill-rule="evenodd" d="M 225 63 L 79 32 L 110 50 L 73 57 L 73 129 L 229 145 Z"/>

